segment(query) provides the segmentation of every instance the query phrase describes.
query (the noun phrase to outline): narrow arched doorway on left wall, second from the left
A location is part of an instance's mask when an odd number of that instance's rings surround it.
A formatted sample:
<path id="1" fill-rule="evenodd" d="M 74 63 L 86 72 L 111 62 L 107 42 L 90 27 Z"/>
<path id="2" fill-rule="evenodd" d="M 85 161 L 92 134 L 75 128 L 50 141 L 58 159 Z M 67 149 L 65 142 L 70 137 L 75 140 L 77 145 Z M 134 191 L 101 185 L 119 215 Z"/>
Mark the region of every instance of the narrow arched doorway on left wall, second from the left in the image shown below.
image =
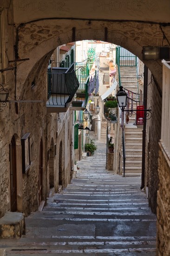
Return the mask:
<path id="1" fill-rule="evenodd" d="M 43 145 L 42 140 L 39 145 L 39 205 L 42 201 L 42 188 L 43 188 Z"/>

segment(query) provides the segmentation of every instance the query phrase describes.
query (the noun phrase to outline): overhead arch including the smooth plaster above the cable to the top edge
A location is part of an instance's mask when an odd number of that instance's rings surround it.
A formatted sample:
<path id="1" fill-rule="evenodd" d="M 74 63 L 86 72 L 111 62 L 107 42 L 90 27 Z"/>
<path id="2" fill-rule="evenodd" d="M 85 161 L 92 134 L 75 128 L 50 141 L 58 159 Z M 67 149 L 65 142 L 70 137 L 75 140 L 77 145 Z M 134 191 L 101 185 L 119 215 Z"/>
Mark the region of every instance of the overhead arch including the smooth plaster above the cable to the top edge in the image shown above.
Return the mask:
<path id="1" fill-rule="evenodd" d="M 17 69 L 17 74 L 25 77 L 39 60 L 46 61 L 46 56 L 56 47 L 72 41 L 107 41 L 128 49 L 140 60 L 143 46 L 170 45 L 170 1 L 167 0 L 54 0 L 34 4 L 27 0 L 22 6 L 19 2 L 12 2 L 17 27 L 15 55 L 30 59 Z M 161 88 L 161 61 L 144 61 L 144 64 Z"/>

